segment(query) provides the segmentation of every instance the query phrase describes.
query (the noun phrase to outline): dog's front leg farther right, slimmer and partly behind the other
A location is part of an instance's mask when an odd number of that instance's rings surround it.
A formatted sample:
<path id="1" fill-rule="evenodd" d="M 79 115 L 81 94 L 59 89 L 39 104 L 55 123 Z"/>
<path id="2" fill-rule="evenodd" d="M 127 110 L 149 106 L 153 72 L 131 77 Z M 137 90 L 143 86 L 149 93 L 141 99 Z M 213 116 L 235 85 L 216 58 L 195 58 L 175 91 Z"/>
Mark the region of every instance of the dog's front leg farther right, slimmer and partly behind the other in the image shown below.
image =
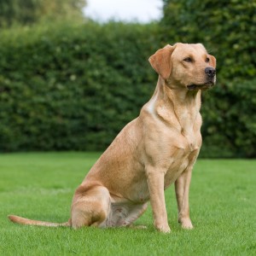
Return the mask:
<path id="1" fill-rule="evenodd" d="M 193 225 L 189 218 L 189 184 L 191 174 L 192 167 L 189 167 L 175 182 L 178 222 L 182 225 L 183 229 L 193 229 Z"/>

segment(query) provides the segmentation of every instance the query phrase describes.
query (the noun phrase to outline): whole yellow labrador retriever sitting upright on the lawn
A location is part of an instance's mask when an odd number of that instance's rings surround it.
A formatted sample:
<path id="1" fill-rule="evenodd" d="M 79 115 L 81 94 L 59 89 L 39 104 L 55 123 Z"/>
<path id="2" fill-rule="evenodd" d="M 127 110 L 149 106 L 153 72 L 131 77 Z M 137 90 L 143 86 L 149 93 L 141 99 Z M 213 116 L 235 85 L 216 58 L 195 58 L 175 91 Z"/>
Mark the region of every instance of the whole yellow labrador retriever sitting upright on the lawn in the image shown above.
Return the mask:
<path id="1" fill-rule="evenodd" d="M 79 185 L 68 222 L 10 215 L 11 221 L 74 229 L 130 226 L 150 200 L 154 227 L 170 232 L 164 190 L 175 183 L 178 221 L 193 228 L 189 183 L 201 148 L 201 90 L 215 84 L 216 60 L 202 44 L 178 43 L 157 50 L 149 62 L 159 74 L 154 95 Z"/>

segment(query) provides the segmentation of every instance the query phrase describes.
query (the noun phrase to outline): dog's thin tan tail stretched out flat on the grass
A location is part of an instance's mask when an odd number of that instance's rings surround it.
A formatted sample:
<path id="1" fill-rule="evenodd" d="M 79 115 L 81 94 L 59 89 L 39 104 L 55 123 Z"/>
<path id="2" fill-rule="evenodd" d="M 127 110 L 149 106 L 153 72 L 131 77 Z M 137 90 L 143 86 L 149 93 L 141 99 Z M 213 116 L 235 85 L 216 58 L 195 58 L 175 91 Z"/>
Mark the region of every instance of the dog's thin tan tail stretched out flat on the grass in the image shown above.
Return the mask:
<path id="1" fill-rule="evenodd" d="M 36 225 L 36 226 L 45 226 L 45 227 L 70 227 L 71 223 L 70 221 L 67 221 L 65 223 L 52 223 L 47 221 L 40 221 L 40 220 L 32 220 L 29 218 L 22 218 L 20 216 L 15 215 L 9 215 L 8 218 L 15 223 L 18 224 L 26 224 L 26 225 Z"/>

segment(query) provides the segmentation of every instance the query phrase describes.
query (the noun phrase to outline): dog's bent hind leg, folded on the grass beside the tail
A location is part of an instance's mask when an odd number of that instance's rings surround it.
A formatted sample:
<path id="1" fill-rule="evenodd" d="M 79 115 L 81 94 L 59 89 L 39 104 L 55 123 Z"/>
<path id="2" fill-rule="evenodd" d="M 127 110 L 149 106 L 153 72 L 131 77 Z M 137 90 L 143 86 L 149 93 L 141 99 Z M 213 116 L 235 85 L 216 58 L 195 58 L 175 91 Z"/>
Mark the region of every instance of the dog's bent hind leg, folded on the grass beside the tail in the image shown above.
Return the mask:
<path id="1" fill-rule="evenodd" d="M 110 195 L 105 187 L 77 189 L 71 209 L 72 227 L 98 226 L 108 217 L 109 209 Z"/>

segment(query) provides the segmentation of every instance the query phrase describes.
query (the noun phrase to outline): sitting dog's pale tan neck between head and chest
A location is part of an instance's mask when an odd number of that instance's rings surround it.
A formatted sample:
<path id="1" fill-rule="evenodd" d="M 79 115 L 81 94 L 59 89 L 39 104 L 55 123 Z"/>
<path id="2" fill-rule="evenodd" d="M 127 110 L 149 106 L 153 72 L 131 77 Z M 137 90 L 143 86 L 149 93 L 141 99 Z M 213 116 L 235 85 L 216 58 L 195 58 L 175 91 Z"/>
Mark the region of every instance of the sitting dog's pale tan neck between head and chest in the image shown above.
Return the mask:
<path id="1" fill-rule="evenodd" d="M 191 91 L 181 85 L 171 83 L 159 77 L 149 103 L 154 102 L 154 113 L 160 119 L 170 125 L 180 127 L 183 134 L 189 135 L 194 129 L 201 108 L 201 90 Z M 175 113 L 175 115 L 170 113 Z"/>

